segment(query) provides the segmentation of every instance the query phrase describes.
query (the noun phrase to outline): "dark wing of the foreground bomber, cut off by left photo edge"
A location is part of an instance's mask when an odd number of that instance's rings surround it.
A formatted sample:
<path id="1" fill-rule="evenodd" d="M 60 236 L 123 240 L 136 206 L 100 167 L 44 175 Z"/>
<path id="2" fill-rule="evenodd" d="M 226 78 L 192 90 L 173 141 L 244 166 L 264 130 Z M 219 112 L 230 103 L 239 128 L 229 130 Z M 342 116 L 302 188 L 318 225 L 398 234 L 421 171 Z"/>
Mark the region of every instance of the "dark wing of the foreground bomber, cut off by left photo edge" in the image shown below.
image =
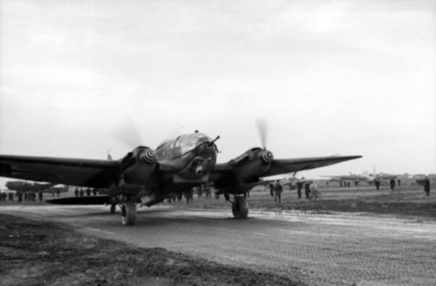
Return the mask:
<path id="1" fill-rule="evenodd" d="M 65 185 L 108 187 L 119 174 L 118 161 L 0 155 L 0 176 Z"/>

